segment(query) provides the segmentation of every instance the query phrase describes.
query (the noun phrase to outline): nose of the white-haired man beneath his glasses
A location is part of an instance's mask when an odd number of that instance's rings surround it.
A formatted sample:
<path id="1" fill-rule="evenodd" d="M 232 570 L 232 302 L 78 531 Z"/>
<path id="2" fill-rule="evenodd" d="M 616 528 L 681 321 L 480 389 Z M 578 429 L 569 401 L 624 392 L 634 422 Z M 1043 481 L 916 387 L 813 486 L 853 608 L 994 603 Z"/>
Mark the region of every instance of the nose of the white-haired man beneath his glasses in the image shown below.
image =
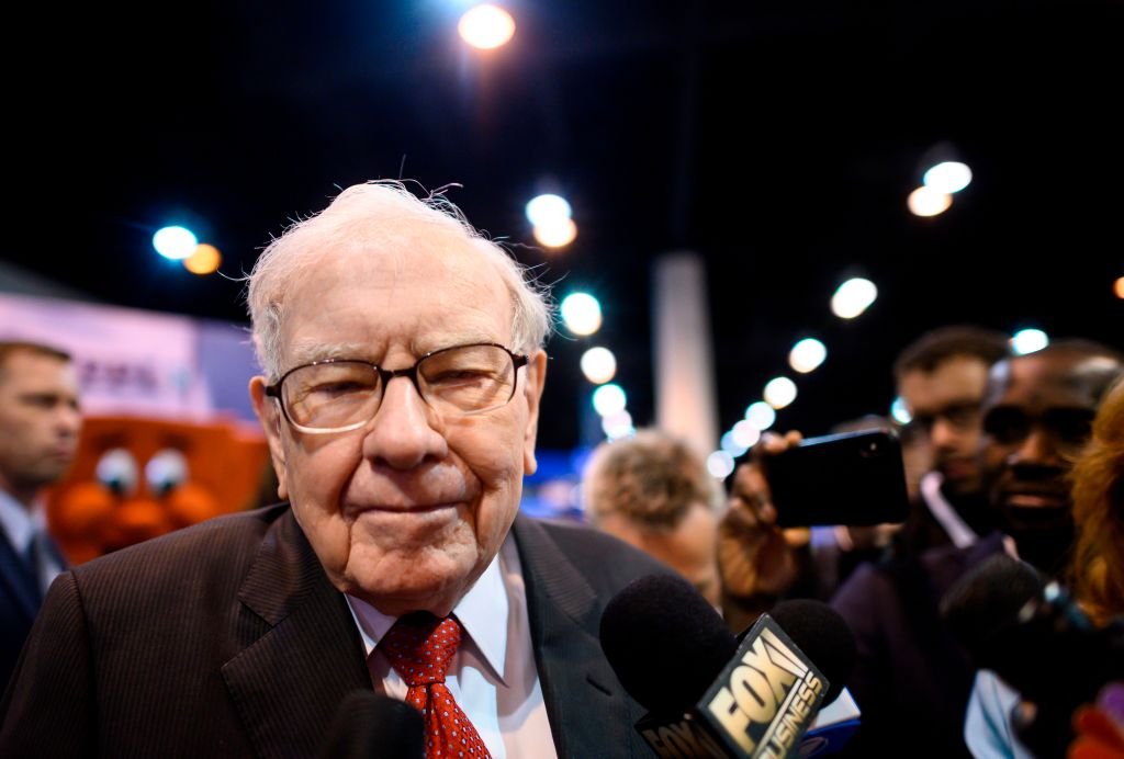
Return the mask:
<path id="1" fill-rule="evenodd" d="M 363 438 L 363 455 L 393 469 L 410 469 L 448 454 L 443 424 L 409 377 L 395 377 Z"/>

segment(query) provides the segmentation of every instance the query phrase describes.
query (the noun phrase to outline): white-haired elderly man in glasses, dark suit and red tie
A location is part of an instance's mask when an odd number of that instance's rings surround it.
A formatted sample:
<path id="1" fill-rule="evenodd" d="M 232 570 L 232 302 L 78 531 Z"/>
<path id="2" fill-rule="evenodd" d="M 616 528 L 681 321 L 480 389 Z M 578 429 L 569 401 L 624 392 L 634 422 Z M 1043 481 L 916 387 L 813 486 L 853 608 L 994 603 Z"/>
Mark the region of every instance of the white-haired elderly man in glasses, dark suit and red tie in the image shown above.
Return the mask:
<path id="1" fill-rule="evenodd" d="M 426 710 L 430 757 L 643 751 L 597 631 L 667 569 L 517 514 L 549 319 L 511 258 L 363 184 L 262 254 L 248 301 L 288 503 L 56 580 L 0 755 L 307 757 L 372 687 Z"/>

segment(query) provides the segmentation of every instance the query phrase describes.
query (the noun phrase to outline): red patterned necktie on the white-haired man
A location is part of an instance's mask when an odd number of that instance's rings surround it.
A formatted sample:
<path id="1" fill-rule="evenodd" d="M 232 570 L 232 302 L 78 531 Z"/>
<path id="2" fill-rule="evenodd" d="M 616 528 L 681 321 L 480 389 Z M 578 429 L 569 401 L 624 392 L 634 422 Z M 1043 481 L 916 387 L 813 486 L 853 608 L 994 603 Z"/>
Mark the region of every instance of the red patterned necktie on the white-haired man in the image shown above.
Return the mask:
<path id="1" fill-rule="evenodd" d="M 480 733 L 445 686 L 445 673 L 460 644 L 460 622 L 452 616 L 438 620 L 428 612 L 399 618 L 379 641 L 379 649 L 409 686 L 406 701 L 425 719 L 426 759 L 491 759 Z"/>

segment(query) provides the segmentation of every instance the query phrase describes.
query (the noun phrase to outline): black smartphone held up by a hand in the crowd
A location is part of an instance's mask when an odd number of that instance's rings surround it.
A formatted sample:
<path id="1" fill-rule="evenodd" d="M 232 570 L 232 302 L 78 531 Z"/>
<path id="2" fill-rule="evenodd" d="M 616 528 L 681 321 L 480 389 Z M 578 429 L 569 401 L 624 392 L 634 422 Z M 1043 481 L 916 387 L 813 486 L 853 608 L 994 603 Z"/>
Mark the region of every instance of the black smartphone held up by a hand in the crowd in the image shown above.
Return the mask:
<path id="1" fill-rule="evenodd" d="M 808 438 L 762 466 L 781 527 L 904 522 L 909 511 L 901 443 L 889 430 Z"/>

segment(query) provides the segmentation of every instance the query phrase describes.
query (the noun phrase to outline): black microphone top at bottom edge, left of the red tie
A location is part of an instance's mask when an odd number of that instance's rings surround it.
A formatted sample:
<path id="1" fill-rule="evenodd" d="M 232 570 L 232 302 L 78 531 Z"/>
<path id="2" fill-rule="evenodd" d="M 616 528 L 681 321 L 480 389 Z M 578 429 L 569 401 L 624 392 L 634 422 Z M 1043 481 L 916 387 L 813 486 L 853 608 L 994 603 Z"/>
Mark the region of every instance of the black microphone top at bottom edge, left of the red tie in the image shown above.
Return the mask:
<path id="1" fill-rule="evenodd" d="M 352 691 L 336 708 L 318 759 L 424 759 L 422 713 L 374 691 Z"/>

